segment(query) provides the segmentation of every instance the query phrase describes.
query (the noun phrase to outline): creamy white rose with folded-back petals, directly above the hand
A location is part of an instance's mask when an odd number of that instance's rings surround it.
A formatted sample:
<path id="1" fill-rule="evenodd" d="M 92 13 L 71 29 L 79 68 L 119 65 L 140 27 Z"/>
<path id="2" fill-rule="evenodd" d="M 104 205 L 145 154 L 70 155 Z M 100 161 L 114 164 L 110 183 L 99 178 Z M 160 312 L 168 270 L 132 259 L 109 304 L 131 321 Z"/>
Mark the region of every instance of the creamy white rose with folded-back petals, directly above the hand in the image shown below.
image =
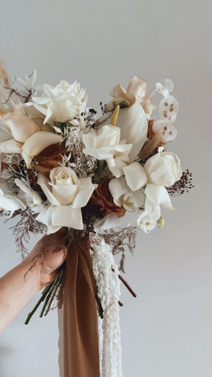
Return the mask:
<path id="1" fill-rule="evenodd" d="M 38 184 L 50 202 L 37 220 L 48 227 L 48 234 L 61 227 L 83 229 L 81 207 L 84 207 L 97 185 L 91 178 L 77 178 L 69 167 L 57 167 L 50 172 L 50 181 L 38 174 Z"/>

